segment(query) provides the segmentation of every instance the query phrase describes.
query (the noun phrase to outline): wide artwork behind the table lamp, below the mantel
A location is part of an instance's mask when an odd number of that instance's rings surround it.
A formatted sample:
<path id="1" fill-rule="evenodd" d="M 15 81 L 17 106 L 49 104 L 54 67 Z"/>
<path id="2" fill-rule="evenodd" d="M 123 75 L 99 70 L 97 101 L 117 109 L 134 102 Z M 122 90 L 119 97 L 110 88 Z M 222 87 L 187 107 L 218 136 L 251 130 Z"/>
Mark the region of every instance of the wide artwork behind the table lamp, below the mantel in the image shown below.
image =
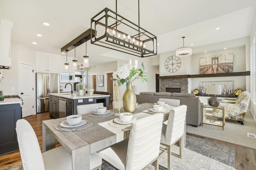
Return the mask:
<path id="1" fill-rule="evenodd" d="M 233 96 L 233 82 L 199 82 L 199 95 L 200 96 L 212 96 L 206 94 L 207 85 L 221 85 L 220 96 Z"/>

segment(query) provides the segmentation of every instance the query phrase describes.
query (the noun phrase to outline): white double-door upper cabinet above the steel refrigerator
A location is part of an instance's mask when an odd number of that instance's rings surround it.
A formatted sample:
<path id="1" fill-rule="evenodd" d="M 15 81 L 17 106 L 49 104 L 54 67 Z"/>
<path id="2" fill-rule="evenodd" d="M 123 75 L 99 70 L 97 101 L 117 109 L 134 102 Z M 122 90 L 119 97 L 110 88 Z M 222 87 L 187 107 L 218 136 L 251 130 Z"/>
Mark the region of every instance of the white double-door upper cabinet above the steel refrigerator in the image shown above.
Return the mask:
<path id="1" fill-rule="evenodd" d="M 36 71 L 38 72 L 60 72 L 60 58 L 48 56 L 36 56 Z"/>

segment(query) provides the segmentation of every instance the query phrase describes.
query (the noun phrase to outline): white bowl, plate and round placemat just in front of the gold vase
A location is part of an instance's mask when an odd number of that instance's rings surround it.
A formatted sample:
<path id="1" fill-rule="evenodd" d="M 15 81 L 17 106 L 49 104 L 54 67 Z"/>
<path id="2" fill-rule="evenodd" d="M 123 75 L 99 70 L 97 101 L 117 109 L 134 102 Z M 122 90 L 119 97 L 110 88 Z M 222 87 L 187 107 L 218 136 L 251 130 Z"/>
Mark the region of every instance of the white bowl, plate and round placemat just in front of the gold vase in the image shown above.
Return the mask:
<path id="1" fill-rule="evenodd" d="M 108 124 L 112 127 L 126 128 L 130 127 L 135 120 L 137 120 L 137 116 L 130 112 L 123 112 L 119 113 L 119 117 L 111 119 Z"/>

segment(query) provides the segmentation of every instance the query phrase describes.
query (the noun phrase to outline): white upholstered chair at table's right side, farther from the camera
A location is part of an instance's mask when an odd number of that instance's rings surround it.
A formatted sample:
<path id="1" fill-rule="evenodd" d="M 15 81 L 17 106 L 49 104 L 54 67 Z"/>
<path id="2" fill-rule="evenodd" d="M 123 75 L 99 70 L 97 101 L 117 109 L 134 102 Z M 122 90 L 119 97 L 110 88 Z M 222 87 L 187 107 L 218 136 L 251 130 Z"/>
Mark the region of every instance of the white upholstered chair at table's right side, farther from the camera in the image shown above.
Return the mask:
<path id="1" fill-rule="evenodd" d="M 170 110 L 168 123 L 163 123 L 162 134 L 161 134 L 161 145 L 166 146 L 168 154 L 168 167 L 171 169 L 171 154 L 181 158 L 182 157 L 182 148 L 183 148 L 183 136 L 184 136 L 184 124 L 186 118 L 187 106 L 181 105 Z M 180 153 L 172 153 L 172 146 L 180 141 Z M 159 165 L 160 166 L 160 165 Z M 163 169 L 165 167 L 160 166 Z"/>

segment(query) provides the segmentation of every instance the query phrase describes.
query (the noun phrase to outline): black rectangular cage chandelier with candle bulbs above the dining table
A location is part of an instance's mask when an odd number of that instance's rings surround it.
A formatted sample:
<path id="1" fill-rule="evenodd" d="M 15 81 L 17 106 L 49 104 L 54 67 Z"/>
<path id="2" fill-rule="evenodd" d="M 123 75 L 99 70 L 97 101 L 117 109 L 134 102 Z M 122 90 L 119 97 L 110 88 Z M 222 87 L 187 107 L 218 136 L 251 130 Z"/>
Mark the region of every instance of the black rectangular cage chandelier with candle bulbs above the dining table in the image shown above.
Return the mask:
<path id="1" fill-rule="evenodd" d="M 157 55 L 155 35 L 108 8 L 91 19 L 91 35 L 94 45 L 138 57 Z"/>

